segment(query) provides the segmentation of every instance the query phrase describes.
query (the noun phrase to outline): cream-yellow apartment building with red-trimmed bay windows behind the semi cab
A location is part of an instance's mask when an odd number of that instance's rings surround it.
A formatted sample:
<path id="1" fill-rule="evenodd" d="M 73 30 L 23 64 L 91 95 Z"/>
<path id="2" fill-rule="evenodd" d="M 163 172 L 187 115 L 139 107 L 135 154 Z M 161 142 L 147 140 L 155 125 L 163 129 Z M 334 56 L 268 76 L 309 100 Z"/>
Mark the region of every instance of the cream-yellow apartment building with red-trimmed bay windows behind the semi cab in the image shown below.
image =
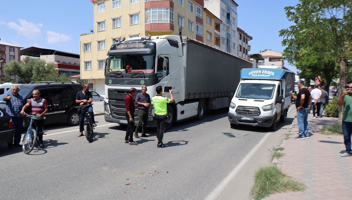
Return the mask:
<path id="1" fill-rule="evenodd" d="M 94 30 L 80 36 L 81 79 L 104 94 L 105 59 L 117 38 L 181 35 L 203 42 L 203 0 L 90 0 Z M 210 31 L 210 33 L 212 33 Z M 215 34 L 214 34 L 215 35 Z"/>

